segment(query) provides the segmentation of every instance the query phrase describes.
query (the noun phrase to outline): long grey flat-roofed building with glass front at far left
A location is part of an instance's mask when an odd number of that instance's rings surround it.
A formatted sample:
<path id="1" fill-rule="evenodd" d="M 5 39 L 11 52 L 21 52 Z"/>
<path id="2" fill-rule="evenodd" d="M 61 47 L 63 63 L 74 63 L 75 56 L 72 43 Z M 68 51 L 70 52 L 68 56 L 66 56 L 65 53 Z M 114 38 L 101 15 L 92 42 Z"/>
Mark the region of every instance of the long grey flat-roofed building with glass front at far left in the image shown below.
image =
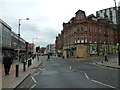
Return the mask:
<path id="1" fill-rule="evenodd" d="M 18 47 L 20 49 L 20 56 L 26 55 L 26 41 L 19 38 L 18 34 L 12 31 L 12 28 L 0 19 L 0 47 L 1 57 L 5 54 L 11 54 L 14 59 L 18 56 Z"/>

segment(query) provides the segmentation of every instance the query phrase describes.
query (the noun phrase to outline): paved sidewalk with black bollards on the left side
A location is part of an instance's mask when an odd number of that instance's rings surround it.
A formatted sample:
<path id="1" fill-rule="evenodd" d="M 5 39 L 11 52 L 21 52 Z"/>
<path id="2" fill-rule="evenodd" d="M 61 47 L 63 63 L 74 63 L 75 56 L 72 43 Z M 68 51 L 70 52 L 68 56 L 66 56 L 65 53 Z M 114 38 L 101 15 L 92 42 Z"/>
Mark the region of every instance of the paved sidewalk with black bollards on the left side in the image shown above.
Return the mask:
<path id="1" fill-rule="evenodd" d="M 14 60 L 9 76 L 4 75 L 4 67 L 2 65 L 2 88 L 15 88 L 17 87 L 25 78 L 30 74 L 34 73 L 36 68 L 41 64 L 41 60 L 34 59 L 32 60 L 32 65 L 27 67 L 26 71 L 23 71 L 23 63 L 19 63 L 18 60 Z M 15 65 L 19 64 L 19 76 L 16 77 Z"/>

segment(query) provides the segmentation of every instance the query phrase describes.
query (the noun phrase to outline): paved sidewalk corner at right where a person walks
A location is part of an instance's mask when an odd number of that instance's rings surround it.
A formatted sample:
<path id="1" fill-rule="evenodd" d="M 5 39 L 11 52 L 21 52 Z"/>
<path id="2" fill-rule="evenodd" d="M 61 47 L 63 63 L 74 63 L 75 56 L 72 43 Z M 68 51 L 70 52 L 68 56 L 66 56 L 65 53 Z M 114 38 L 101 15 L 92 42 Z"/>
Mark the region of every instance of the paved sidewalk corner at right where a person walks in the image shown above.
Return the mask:
<path id="1" fill-rule="evenodd" d="M 102 60 L 101 60 L 102 61 Z M 109 59 L 108 62 L 104 61 L 103 63 L 101 61 L 96 62 L 96 64 L 101 65 L 101 66 L 106 66 L 106 67 L 111 67 L 111 68 L 116 68 L 120 69 L 120 66 L 118 65 L 118 58 L 114 59 Z"/>

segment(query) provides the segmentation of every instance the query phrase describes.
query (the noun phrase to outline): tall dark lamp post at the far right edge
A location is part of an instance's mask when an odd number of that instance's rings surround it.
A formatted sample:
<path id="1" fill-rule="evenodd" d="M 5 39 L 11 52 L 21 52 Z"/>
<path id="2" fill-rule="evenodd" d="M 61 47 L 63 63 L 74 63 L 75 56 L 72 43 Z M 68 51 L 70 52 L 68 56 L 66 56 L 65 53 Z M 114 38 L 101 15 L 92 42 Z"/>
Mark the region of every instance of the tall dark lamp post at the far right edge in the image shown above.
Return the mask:
<path id="1" fill-rule="evenodd" d="M 117 5 L 116 0 L 113 0 L 115 2 L 115 14 L 116 14 L 116 26 L 118 30 L 118 13 L 117 13 Z M 118 65 L 120 65 L 120 41 L 119 41 L 119 30 L 118 30 Z"/>

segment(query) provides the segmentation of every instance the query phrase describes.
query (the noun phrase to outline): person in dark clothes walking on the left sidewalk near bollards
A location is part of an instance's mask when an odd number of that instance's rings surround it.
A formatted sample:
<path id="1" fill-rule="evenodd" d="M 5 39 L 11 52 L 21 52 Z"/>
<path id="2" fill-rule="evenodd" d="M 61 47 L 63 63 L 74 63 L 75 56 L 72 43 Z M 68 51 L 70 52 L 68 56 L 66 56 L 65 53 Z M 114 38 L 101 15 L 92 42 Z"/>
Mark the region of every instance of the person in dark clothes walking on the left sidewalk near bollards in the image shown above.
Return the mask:
<path id="1" fill-rule="evenodd" d="M 3 64 L 4 64 L 4 70 L 5 70 L 5 76 L 9 75 L 10 67 L 12 64 L 12 58 L 10 54 L 6 54 L 3 58 Z"/>

